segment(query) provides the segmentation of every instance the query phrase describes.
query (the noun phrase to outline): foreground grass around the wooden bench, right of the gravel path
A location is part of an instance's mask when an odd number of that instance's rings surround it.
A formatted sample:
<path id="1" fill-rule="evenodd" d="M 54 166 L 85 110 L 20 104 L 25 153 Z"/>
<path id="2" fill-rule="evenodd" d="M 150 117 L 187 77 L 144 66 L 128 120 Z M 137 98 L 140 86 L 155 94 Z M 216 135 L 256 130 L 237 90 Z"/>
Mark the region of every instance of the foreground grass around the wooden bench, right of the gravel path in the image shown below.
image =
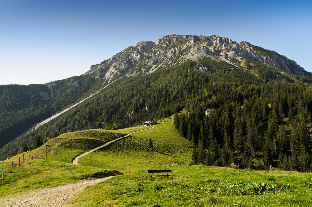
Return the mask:
<path id="1" fill-rule="evenodd" d="M 171 168 L 168 178 L 146 169 L 87 188 L 71 206 L 312 206 L 311 174 L 211 166 Z M 90 199 L 92 198 L 92 199 Z"/>

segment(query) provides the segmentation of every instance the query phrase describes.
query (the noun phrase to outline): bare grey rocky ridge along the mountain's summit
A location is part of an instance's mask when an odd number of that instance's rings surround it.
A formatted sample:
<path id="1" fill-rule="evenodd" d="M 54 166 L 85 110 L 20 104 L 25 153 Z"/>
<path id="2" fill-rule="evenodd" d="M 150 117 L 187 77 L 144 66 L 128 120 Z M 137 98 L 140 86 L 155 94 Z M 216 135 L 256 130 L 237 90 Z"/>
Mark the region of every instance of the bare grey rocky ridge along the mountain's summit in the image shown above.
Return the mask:
<path id="1" fill-rule="evenodd" d="M 124 75 L 149 74 L 159 67 L 180 64 L 189 59 L 196 61 L 201 56 L 227 62 L 233 67 L 241 66 L 245 70 L 251 68 L 242 61 L 247 59 L 270 65 L 286 73 L 306 74 L 306 71 L 295 61 L 248 42 L 236 43 L 229 38 L 217 35 L 180 36 L 175 34 L 163 36 L 154 42 L 143 41 L 135 46 L 129 46 L 110 59 L 92 65 L 86 74 L 92 73 L 97 78 L 103 77 L 110 82 Z M 235 58 L 235 61 L 232 58 Z M 200 70 L 211 72 L 202 67 Z"/>

